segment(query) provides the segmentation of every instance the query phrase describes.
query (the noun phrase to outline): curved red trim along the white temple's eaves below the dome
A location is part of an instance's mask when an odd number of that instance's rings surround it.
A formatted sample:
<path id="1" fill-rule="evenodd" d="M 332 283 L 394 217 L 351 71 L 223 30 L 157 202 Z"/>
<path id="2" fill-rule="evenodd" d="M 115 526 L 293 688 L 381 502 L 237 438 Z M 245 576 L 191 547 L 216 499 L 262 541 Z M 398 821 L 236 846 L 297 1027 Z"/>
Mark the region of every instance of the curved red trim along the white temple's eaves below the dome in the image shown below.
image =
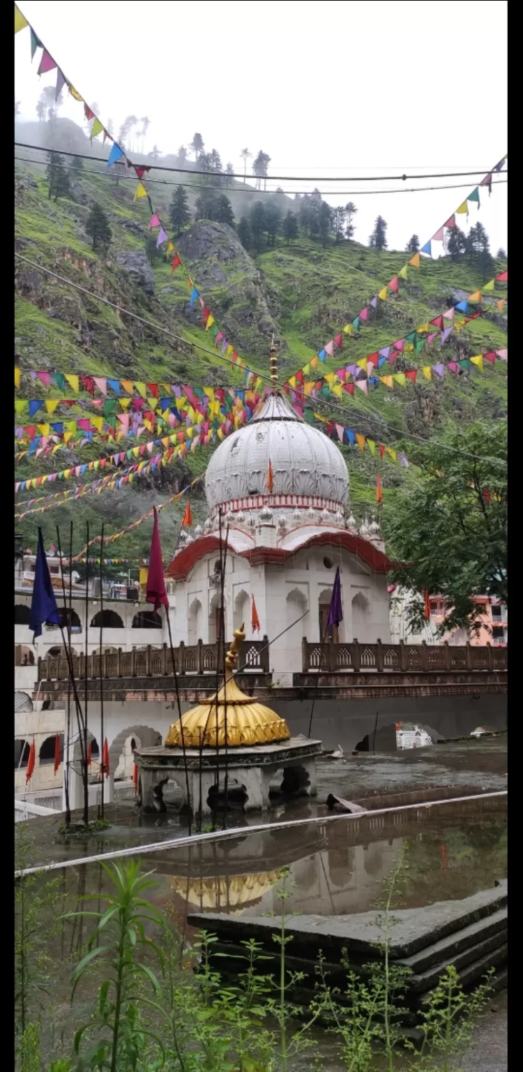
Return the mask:
<path id="1" fill-rule="evenodd" d="M 370 540 L 362 539 L 361 536 L 354 536 L 348 532 L 317 533 L 316 536 L 310 536 L 303 544 L 290 550 L 281 547 L 254 547 L 248 551 L 235 551 L 234 548 L 230 548 L 230 550 L 234 554 L 238 554 L 240 559 L 246 559 L 252 565 L 257 566 L 263 563 L 283 564 L 293 554 L 302 551 L 303 548 L 323 547 L 325 545 L 343 547 L 346 551 L 352 551 L 362 562 L 365 562 L 375 574 L 386 574 L 392 568 L 392 563 L 387 555 L 374 547 Z M 179 551 L 176 557 L 173 559 L 173 562 L 167 567 L 167 577 L 173 577 L 176 581 L 184 581 L 190 570 L 200 559 L 212 551 L 219 550 L 220 540 L 218 536 L 200 536 L 193 544 L 190 544 L 189 547 L 184 547 L 182 551 Z"/>

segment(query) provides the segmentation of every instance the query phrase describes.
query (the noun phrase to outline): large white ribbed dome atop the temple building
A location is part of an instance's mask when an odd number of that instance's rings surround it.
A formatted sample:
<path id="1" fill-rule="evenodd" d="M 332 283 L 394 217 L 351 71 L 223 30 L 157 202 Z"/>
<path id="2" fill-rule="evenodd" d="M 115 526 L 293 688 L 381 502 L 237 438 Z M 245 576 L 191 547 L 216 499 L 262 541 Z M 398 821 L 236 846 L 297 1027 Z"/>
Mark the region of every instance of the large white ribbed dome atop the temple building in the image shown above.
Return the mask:
<path id="1" fill-rule="evenodd" d="M 216 448 L 206 473 L 210 510 L 231 500 L 267 495 L 317 496 L 344 505 L 348 473 L 335 444 L 299 417 L 279 391 L 269 394 L 246 426 Z"/>

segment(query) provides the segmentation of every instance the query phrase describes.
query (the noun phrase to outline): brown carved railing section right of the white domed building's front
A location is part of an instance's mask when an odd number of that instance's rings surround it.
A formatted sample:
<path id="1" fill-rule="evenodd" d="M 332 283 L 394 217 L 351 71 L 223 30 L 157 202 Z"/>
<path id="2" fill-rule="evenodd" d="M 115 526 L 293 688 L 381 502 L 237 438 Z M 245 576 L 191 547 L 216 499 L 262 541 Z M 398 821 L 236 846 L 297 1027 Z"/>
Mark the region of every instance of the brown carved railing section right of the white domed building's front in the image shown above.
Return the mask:
<path id="1" fill-rule="evenodd" d="M 452 671 L 507 670 L 508 649 L 490 644 L 452 646 L 443 644 L 349 644 L 302 641 L 302 673 L 322 670 L 323 673 L 447 673 Z"/>

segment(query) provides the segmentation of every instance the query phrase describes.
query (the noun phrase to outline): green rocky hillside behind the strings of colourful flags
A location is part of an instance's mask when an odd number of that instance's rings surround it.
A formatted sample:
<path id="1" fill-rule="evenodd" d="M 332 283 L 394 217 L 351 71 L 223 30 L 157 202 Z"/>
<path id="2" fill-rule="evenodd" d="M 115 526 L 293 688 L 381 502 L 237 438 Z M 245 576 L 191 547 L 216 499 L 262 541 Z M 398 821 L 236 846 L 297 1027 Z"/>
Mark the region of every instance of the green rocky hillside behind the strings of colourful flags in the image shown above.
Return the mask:
<path id="1" fill-rule="evenodd" d="M 156 259 L 152 269 L 147 265 L 149 209 L 146 198 L 133 202 L 135 182 L 117 183 L 114 177 L 105 174 L 72 173 L 71 198 L 60 198 L 55 204 L 47 196 L 44 167 L 17 162 L 15 175 L 16 252 L 177 337 L 168 338 L 154 327 L 121 316 L 96 299 L 17 259 L 15 363 L 23 370 L 19 397 L 49 398 L 60 393 L 56 388 L 46 391 L 40 382 L 33 383 L 25 374 L 31 369 L 193 386 L 242 386 L 241 372 L 221 360 L 218 352 L 205 354 L 190 345 L 198 343 L 212 351 L 212 340 L 200 326 L 199 310 L 189 306 L 182 272 L 171 273 L 170 266 L 162 258 Z M 164 175 L 166 181 L 173 181 L 173 175 Z M 169 233 L 168 203 L 173 189 L 152 183 L 149 187 L 154 207 Z M 242 196 L 246 198 L 248 195 L 238 194 L 234 202 L 237 217 L 242 211 Z M 283 199 L 288 203 L 286 210 L 292 202 Z M 92 252 L 85 232 L 94 200 L 107 212 L 113 229 L 106 258 Z M 279 341 L 281 378 L 296 373 L 310 361 L 409 256 L 402 252 L 379 253 L 355 242 L 335 245 L 333 240 L 323 248 L 319 242 L 304 237 L 288 245 L 278 237 L 274 247 L 263 245 L 259 253 L 251 256 L 231 228 L 206 221 L 193 224 L 175 241 L 221 329 L 249 366 L 264 375 L 268 374 L 269 345 L 274 332 Z M 505 267 L 506 263 L 496 263 L 497 272 Z M 370 327 L 363 327 L 360 334 L 344 336 L 343 354 L 322 364 L 317 375 L 389 345 L 483 282 L 481 274 L 466 262 L 422 259 L 419 270 L 409 269 L 408 281 L 401 283 L 399 295 L 392 295 L 383 307 L 380 303 L 378 318 Z M 505 294 L 506 288 L 500 286 L 494 297 Z M 506 316 L 496 310 L 495 316 L 472 322 L 460 334 L 452 332 L 443 351 L 434 344 L 429 353 L 408 354 L 406 367 L 452 360 L 458 356 L 458 344 L 465 347 L 468 355 L 506 346 Z M 401 371 L 401 368 L 397 362 L 393 371 Z M 388 372 L 385 366 L 383 373 Z M 432 382 L 420 375 L 416 385 L 408 383 L 405 389 L 398 387 L 392 391 L 380 384 L 370 390 L 369 397 L 358 390 L 354 399 L 344 393 L 343 401 L 332 400 L 344 413 L 329 402 L 316 408 L 355 432 L 400 447 L 408 458 L 409 436 L 430 438 L 439 434 L 448 422 L 459 425 L 478 416 L 503 417 L 506 399 L 507 367 L 496 361 L 495 366 L 485 363 L 484 374 L 474 369 L 460 372 L 459 376 L 447 373 L 443 381 Z M 23 422 L 27 423 L 28 418 Z M 180 479 L 203 472 L 211 449 L 197 449 L 186 461 L 178 460 L 160 474 L 136 479 L 133 487 L 125 487 L 120 492 L 102 492 L 69 506 L 64 504 L 42 515 L 29 516 L 20 524 L 25 546 L 34 546 L 39 523 L 48 538 L 56 538 L 56 525 L 59 524 L 62 539 L 69 541 L 72 519 L 77 533 L 76 549 L 84 544 L 87 519 L 91 534 L 100 532 L 102 518 L 107 535 L 118 531 L 154 502 L 173 494 Z M 365 506 L 372 508 L 374 502 L 379 459 L 368 450 L 361 453 L 357 447 L 344 447 L 343 452 L 349 467 L 353 508 L 357 517 L 361 517 Z M 73 458 L 60 450 L 38 460 L 24 459 L 16 466 L 16 478 L 27 479 L 68 464 L 89 461 L 102 453 L 100 444 L 89 444 Z M 393 510 L 394 496 L 401 493 L 405 480 L 416 478 L 415 474 L 385 460 L 379 471 L 384 482 L 384 510 Z M 48 492 L 68 486 L 57 481 L 48 486 Z M 197 488 L 192 503 L 200 520 L 206 516 L 206 507 L 201 486 Z M 17 497 L 26 500 L 33 494 Z M 169 507 L 163 515 L 166 556 L 174 549 L 180 515 L 180 506 Z M 146 554 L 150 531 L 149 522 L 145 523 L 115 542 L 110 554 Z"/>

